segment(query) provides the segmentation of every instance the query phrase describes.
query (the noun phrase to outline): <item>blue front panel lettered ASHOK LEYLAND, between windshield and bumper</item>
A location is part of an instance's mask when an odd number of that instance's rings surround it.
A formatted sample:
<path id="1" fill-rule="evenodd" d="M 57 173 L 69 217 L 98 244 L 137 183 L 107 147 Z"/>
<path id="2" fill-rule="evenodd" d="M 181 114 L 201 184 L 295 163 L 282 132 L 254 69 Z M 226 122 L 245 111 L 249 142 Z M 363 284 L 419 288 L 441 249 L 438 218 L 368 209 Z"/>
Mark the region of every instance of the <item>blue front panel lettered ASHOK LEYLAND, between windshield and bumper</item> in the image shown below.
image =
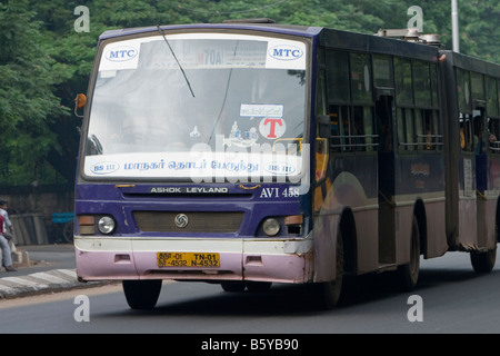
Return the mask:
<path id="1" fill-rule="evenodd" d="M 301 196 L 297 187 L 270 184 L 249 185 L 79 185 L 77 215 L 111 215 L 118 222 L 117 235 L 254 237 L 267 217 L 302 215 Z M 253 188 L 253 189 L 252 189 Z M 102 197 L 108 200 L 102 200 Z M 99 201 L 98 201 L 99 199 Z M 147 212 L 147 214 L 143 214 Z M 182 230 L 150 228 L 154 221 L 170 226 L 178 214 L 204 221 L 206 229 Z M 164 221 L 164 220 L 169 221 Z M 231 230 L 231 224 L 238 228 Z M 147 230 L 141 228 L 149 226 Z"/>

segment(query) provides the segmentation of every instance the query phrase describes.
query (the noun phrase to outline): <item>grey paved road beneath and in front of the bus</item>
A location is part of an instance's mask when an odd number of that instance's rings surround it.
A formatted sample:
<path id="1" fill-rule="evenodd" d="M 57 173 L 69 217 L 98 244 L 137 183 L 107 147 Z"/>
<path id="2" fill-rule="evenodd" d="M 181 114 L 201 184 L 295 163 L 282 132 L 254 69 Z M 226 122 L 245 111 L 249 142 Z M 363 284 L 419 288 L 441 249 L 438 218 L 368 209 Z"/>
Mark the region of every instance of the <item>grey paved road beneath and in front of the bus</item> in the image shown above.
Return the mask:
<path id="1" fill-rule="evenodd" d="M 166 334 L 343 334 L 500 333 L 500 269 L 476 275 L 466 254 L 422 261 L 419 288 L 396 291 L 390 275 L 350 280 L 347 304 L 330 312 L 307 307 L 303 289 L 273 286 L 269 294 L 223 293 L 217 285 L 168 283 L 157 308 L 129 309 L 119 286 L 79 290 L 88 296 L 89 322 L 77 322 L 76 293 L 0 300 L 0 333 L 166 333 Z M 92 291 L 90 291 L 92 290 Z M 421 299 L 422 322 L 414 319 Z M 18 300 L 21 303 L 24 298 Z M 39 303 L 43 301 L 43 303 Z M 2 303 L 11 303 L 6 305 Z M 412 317 L 413 316 L 413 317 Z M 328 342 L 328 339 L 326 339 Z M 197 346 L 198 347 L 198 346 Z"/>

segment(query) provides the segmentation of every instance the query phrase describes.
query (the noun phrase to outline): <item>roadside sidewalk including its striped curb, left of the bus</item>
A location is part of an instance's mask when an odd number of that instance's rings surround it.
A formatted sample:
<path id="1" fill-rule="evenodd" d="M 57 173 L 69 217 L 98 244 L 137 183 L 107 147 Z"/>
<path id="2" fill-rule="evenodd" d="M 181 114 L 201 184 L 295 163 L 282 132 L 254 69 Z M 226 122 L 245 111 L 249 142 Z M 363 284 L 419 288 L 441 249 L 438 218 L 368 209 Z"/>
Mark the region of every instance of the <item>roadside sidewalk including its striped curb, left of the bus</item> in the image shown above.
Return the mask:
<path id="1" fill-rule="evenodd" d="M 107 283 L 78 281 L 72 245 L 18 246 L 17 251 L 21 259 L 14 263 L 17 271 L 0 269 L 0 299 L 88 288 Z"/>

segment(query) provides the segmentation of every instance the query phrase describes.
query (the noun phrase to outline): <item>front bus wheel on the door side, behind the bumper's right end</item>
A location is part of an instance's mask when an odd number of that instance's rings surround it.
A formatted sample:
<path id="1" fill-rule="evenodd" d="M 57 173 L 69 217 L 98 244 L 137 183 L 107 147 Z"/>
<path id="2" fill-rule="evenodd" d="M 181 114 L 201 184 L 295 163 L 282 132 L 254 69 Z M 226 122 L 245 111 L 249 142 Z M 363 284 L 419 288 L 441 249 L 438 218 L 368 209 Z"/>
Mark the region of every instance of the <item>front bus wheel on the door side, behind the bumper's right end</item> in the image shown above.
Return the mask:
<path id="1" fill-rule="evenodd" d="M 329 310 L 339 305 L 343 283 L 343 246 L 342 235 L 337 239 L 336 280 L 313 285 L 314 301 L 320 309 Z"/>

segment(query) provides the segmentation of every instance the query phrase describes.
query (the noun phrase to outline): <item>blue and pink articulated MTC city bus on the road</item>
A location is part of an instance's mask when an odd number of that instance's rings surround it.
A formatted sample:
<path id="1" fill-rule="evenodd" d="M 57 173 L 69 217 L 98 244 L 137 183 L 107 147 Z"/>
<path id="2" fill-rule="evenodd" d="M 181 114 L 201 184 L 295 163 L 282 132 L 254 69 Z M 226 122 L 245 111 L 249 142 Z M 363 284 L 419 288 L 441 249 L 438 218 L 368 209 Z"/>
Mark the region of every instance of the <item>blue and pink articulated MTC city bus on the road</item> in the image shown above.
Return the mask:
<path id="1" fill-rule="evenodd" d="M 500 67 L 393 34 L 268 20 L 102 33 L 78 101 L 79 279 L 121 280 L 138 309 L 163 280 L 304 285 L 328 309 L 346 275 L 412 290 L 421 256 L 470 253 L 490 271 Z"/>

